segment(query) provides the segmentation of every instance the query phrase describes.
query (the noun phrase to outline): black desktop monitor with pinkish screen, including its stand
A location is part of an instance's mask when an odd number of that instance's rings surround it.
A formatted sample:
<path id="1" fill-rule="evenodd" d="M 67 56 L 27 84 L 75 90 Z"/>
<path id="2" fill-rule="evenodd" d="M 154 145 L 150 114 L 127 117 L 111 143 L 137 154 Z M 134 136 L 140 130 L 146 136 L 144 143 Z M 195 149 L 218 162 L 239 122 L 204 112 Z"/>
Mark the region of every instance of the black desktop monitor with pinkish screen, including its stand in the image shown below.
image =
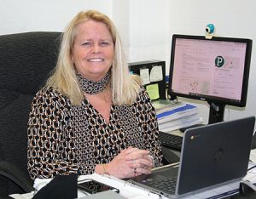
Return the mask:
<path id="1" fill-rule="evenodd" d="M 225 105 L 244 107 L 253 41 L 173 35 L 168 94 L 210 105 L 208 123 L 224 120 Z"/>

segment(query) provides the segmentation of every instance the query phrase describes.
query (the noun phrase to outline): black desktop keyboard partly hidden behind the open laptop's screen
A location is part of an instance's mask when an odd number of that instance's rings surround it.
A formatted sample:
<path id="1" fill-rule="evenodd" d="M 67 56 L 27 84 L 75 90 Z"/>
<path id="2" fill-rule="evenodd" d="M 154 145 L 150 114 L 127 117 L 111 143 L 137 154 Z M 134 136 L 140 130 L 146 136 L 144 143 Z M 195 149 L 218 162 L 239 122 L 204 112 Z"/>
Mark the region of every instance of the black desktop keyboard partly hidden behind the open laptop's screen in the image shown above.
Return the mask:
<path id="1" fill-rule="evenodd" d="M 167 148 L 172 148 L 177 151 L 181 151 L 183 145 L 183 137 L 176 134 L 167 134 L 165 132 L 159 132 L 160 143 Z"/>

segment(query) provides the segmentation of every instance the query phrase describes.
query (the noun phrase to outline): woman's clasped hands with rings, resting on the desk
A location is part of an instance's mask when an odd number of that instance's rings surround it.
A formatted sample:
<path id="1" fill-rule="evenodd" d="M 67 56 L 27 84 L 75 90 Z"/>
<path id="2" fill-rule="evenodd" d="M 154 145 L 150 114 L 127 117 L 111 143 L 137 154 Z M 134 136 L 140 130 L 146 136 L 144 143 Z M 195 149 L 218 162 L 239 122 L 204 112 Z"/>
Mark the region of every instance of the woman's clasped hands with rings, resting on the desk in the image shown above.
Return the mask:
<path id="1" fill-rule="evenodd" d="M 148 174 L 153 168 L 153 161 L 149 151 L 129 147 L 115 156 L 106 164 L 109 174 L 119 178 L 131 178 L 141 174 Z"/>

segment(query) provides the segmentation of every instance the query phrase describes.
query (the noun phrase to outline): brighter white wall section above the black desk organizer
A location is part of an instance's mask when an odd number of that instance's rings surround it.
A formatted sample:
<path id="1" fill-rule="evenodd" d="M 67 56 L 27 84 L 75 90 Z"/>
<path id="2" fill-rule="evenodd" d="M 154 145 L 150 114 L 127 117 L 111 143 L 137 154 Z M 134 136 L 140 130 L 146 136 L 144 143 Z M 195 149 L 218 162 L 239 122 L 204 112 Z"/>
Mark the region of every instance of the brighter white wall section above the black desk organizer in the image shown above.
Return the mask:
<path id="1" fill-rule="evenodd" d="M 170 48 L 169 0 L 140 0 L 130 4 L 130 60 L 168 60 Z"/>

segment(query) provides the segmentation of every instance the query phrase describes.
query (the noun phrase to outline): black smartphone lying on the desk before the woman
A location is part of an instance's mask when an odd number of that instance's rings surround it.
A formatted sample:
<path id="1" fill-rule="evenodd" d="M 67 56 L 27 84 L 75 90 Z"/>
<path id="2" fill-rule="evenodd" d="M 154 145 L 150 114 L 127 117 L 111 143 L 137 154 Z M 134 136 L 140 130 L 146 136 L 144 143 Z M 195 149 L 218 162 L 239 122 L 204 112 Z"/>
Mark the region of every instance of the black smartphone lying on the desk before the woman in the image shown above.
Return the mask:
<path id="1" fill-rule="evenodd" d="M 83 190 L 89 194 L 95 194 L 105 190 L 113 190 L 119 193 L 119 189 L 114 188 L 113 186 L 103 184 L 94 179 L 84 179 L 82 182 L 79 182 L 78 189 Z"/>

